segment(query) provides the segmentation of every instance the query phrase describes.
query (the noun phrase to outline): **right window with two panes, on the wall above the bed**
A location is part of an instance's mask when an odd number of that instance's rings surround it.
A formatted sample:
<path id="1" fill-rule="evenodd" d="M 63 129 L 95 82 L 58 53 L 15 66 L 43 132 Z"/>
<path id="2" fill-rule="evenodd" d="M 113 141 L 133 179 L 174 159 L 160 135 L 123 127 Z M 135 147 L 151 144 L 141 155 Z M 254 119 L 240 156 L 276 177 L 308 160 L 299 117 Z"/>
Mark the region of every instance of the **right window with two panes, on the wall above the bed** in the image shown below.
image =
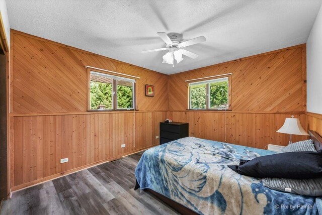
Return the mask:
<path id="1" fill-rule="evenodd" d="M 189 83 L 189 109 L 230 110 L 229 77 Z"/>

